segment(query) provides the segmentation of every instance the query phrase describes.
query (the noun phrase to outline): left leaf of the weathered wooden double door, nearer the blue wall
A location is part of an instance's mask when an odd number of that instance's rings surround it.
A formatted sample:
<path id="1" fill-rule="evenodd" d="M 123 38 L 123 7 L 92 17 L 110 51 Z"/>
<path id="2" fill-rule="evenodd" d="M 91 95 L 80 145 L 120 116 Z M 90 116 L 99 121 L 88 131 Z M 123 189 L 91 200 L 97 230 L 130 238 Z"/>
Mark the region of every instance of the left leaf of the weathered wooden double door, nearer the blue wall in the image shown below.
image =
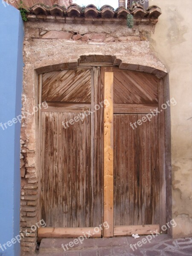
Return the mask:
<path id="1" fill-rule="evenodd" d="M 39 236 L 81 236 L 102 223 L 101 92 L 100 68 L 42 76 Z"/>

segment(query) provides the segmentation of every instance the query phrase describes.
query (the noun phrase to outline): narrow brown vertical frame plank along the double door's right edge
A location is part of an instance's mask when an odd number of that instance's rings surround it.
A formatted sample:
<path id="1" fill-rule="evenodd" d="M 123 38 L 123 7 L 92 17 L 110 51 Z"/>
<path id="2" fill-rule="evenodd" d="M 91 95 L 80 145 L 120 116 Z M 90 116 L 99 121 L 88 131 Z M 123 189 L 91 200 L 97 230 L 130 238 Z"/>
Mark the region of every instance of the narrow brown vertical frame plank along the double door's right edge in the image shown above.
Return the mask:
<path id="1" fill-rule="evenodd" d="M 164 103 L 163 79 L 158 80 L 159 111 Z M 166 224 L 165 111 L 159 113 L 160 230 Z M 163 232 L 163 230 L 161 230 Z M 163 233 L 166 233 L 164 231 Z"/>

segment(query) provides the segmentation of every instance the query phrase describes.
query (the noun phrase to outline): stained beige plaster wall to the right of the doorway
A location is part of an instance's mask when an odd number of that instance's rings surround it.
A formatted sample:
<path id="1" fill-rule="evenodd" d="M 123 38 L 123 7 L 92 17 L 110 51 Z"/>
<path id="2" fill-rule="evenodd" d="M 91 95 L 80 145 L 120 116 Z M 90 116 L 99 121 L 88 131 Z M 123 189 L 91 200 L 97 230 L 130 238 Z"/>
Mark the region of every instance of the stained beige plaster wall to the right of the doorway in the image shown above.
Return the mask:
<path id="1" fill-rule="evenodd" d="M 170 79 L 174 237 L 192 236 L 192 0 L 150 0 L 162 15 L 150 42 Z"/>

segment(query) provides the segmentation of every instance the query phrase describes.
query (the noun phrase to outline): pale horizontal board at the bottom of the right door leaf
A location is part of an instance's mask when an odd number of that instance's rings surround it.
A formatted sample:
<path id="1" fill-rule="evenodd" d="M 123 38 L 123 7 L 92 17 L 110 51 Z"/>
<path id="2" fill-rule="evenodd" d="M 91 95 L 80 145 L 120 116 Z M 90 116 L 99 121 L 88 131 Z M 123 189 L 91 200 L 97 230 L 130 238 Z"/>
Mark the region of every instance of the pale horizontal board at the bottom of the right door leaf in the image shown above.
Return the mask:
<path id="1" fill-rule="evenodd" d="M 114 226 L 114 236 L 149 235 L 160 231 L 160 225 Z"/>

